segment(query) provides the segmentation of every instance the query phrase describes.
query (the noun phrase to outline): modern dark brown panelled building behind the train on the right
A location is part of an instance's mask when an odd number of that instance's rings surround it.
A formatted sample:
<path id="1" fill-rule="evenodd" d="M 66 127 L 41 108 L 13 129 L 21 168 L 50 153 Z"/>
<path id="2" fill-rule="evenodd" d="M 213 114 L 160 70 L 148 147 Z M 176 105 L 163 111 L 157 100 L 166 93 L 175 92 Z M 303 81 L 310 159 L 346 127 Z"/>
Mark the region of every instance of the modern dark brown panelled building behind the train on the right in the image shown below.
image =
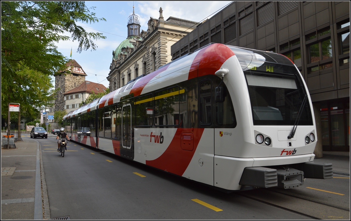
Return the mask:
<path id="1" fill-rule="evenodd" d="M 211 42 L 289 57 L 311 94 L 316 150 L 350 151 L 349 1 L 235 1 L 173 44 L 172 60 Z"/>

